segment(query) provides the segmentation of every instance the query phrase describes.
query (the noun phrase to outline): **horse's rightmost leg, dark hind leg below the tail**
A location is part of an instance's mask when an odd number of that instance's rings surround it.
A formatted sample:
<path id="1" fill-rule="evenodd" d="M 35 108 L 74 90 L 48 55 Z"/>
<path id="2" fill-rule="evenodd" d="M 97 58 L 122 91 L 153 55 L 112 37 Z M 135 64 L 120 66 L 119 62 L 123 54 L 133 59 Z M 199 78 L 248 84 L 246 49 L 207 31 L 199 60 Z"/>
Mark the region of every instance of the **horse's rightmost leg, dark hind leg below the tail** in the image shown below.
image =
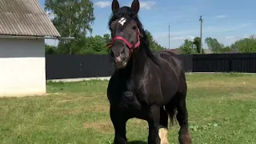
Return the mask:
<path id="1" fill-rule="evenodd" d="M 190 144 L 191 138 L 188 128 L 188 112 L 186 109 L 186 93 L 178 93 L 175 95 L 178 98 L 178 103 L 176 104 L 178 114 L 176 118 L 180 126 L 178 132 L 178 141 L 180 144 Z"/>

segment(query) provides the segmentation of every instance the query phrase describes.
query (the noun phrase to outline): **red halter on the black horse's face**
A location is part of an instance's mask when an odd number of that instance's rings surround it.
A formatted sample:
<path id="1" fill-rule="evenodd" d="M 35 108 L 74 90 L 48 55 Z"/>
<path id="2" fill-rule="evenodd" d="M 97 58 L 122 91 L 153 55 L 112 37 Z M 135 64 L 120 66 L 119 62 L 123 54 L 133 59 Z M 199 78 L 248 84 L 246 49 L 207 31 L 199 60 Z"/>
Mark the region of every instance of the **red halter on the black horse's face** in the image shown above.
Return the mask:
<path id="1" fill-rule="evenodd" d="M 110 49 L 111 46 L 113 46 L 114 42 L 119 39 L 119 40 L 121 40 L 122 42 L 125 42 L 125 43 L 126 43 L 126 46 L 128 46 L 128 48 L 130 49 L 130 54 L 132 54 L 133 51 L 134 51 L 134 49 L 138 48 L 138 46 L 140 46 L 140 44 L 141 44 L 140 36 L 141 36 L 141 33 L 140 33 L 139 29 L 137 28 L 137 37 L 138 37 L 138 42 L 137 42 L 137 43 L 135 43 L 135 44 L 132 45 L 130 42 L 128 42 L 128 41 L 126 40 L 126 38 L 123 38 L 123 37 L 121 37 L 121 36 L 116 36 L 116 37 L 114 37 L 114 38 L 112 39 L 112 42 L 110 42 L 110 43 L 107 44 L 106 46 Z"/>

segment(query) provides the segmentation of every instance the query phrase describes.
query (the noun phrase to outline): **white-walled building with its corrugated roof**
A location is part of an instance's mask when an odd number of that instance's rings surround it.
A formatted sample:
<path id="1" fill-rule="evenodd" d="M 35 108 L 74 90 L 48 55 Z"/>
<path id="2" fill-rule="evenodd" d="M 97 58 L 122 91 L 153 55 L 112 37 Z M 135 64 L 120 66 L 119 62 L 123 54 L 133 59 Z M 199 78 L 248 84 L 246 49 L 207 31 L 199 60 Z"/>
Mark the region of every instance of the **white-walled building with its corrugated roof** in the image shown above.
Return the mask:
<path id="1" fill-rule="evenodd" d="M 0 97 L 46 94 L 45 37 L 60 34 L 38 0 L 0 0 Z"/>

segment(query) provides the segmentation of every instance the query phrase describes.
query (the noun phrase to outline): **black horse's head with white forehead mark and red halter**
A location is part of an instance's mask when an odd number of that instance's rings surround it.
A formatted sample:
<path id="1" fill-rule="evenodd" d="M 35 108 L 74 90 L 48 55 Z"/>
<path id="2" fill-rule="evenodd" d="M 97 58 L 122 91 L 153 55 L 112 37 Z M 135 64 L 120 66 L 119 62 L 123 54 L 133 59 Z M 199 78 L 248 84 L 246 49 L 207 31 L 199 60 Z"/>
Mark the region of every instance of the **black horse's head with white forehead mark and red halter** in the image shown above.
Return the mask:
<path id="1" fill-rule="evenodd" d="M 131 7 L 119 8 L 117 0 L 112 2 L 112 18 L 109 28 L 112 42 L 110 42 L 110 54 L 118 69 L 126 67 L 134 49 L 140 46 L 140 31 L 137 21 L 139 10 L 138 0 L 132 2 Z"/>

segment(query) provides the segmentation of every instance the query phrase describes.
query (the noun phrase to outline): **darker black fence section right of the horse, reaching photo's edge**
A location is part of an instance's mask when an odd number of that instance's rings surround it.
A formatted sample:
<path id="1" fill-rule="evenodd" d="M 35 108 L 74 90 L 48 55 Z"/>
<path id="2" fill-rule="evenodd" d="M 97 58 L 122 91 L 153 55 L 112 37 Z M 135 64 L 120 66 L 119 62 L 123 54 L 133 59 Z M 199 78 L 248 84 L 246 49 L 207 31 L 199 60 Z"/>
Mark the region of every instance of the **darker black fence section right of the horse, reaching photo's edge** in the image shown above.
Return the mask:
<path id="1" fill-rule="evenodd" d="M 193 72 L 256 72 L 253 54 L 194 54 Z"/>

